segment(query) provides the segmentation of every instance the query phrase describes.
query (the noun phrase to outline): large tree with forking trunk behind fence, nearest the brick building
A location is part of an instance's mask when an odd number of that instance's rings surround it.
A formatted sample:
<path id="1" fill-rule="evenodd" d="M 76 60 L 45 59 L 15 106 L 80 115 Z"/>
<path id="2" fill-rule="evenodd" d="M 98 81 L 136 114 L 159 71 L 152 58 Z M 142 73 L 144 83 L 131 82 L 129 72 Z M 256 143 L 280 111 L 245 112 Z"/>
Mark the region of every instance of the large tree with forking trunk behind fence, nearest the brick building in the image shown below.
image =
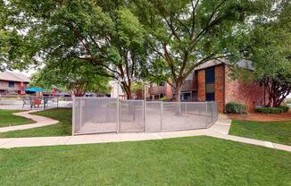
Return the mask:
<path id="1" fill-rule="evenodd" d="M 195 67 L 210 60 L 239 54 L 240 25 L 259 13 L 260 1 L 136 0 L 136 13 L 147 33 L 152 67 L 162 67 L 159 79 L 167 80 L 180 101 L 180 91 Z M 158 64 L 156 64 L 158 63 Z M 149 68 L 151 69 L 151 68 Z M 154 69 L 154 71 L 157 71 Z"/>

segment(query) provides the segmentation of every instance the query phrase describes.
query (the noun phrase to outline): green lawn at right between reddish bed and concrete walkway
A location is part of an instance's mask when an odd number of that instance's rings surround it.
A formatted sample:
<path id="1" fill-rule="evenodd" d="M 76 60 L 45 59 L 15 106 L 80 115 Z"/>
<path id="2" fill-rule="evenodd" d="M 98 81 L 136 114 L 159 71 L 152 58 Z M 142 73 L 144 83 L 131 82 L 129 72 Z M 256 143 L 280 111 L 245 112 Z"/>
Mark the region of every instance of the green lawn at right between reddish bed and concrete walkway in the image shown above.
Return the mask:
<path id="1" fill-rule="evenodd" d="M 291 145 L 291 121 L 252 122 L 234 120 L 231 123 L 229 134 Z"/>

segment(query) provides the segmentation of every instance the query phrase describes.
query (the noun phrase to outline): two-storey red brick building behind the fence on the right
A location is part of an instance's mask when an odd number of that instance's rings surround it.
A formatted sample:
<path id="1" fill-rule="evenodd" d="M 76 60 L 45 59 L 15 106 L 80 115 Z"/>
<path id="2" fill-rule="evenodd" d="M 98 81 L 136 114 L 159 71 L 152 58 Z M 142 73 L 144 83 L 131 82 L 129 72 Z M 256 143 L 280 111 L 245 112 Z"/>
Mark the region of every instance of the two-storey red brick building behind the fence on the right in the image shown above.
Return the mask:
<path id="1" fill-rule="evenodd" d="M 240 68 L 254 71 L 252 63 L 241 60 L 237 63 Z M 230 78 L 229 63 L 210 61 L 195 69 L 185 83 L 181 92 L 183 101 L 217 101 L 219 111 L 225 111 L 225 105 L 237 101 L 246 105 L 248 111 L 254 106 L 263 106 L 265 91 L 255 82 L 245 83 Z M 173 95 L 174 97 L 175 95 Z"/>

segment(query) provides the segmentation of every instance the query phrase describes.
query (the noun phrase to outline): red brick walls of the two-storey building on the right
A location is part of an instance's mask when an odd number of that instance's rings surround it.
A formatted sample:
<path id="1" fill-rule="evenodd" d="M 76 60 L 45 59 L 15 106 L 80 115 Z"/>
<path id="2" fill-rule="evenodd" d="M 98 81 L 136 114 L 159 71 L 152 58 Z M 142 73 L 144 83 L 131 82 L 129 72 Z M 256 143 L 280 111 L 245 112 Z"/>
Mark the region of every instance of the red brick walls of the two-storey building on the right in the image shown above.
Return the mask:
<path id="1" fill-rule="evenodd" d="M 198 100 L 205 101 L 205 98 L 205 69 L 202 69 L 198 71 Z M 230 101 L 245 104 L 247 111 L 252 111 L 254 106 L 264 105 L 264 89 L 254 82 L 231 80 L 229 66 L 219 64 L 215 66 L 215 101 L 219 112 L 223 112 Z"/>

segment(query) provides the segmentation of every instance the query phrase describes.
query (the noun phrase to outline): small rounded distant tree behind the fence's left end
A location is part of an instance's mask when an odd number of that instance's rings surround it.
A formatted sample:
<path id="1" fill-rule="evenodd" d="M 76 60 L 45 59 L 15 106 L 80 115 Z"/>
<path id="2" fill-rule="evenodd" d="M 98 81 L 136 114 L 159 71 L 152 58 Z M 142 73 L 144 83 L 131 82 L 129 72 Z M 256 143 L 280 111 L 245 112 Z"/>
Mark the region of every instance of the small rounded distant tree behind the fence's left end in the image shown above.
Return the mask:
<path id="1" fill-rule="evenodd" d="M 110 79 L 100 72 L 96 65 L 76 59 L 64 60 L 61 64 L 52 62 L 32 76 L 31 85 L 66 89 L 76 97 L 82 97 L 86 92 L 108 93 Z"/>

